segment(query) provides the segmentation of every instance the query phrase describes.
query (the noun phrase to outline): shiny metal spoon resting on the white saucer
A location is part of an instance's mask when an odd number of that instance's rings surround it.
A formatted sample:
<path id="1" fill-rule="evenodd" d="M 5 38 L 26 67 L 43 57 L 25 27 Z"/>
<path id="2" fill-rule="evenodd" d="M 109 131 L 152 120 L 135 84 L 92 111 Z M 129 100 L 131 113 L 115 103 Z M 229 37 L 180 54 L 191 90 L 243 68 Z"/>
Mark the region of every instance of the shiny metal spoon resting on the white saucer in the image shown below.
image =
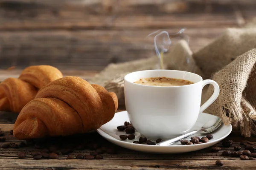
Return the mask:
<path id="1" fill-rule="evenodd" d="M 212 119 L 208 122 L 206 122 L 200 130 L 193 130 L 189 133 L 185 133 L 183 135 L 180 135 L 180 136 L 177 136 L 173 139 L 169 139 L 169 140 L 166 140 L 166 141 L 163 141 L 163 142 L 159 142 L 157 143 L 157 145 L 159 146 L 168 146 L 174 142 L 177 142 L 177 141 L 180 141 L 182 139 L 185 139 L 189 136 L 192 136 L 196 133 L 203 133 L 203 134 L 206 134 L 206 133 L 211 133 L 213 132 L 214 130 L 216 130 L 220 125 L 222 124 L 222 120 L 220 118 L 217 118 L 217 119 Z"/>

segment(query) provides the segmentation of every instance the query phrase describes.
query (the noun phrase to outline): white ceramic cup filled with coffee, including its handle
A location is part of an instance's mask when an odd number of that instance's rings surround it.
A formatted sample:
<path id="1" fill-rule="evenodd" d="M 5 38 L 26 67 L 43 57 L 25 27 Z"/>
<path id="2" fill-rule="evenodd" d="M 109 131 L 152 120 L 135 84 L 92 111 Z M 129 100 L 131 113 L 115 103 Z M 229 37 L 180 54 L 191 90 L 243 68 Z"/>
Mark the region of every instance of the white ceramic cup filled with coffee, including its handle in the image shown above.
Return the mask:
<path id="1" fill-rule="evenodd" d="M 214 86 L 201 105 L 202 89 Z M 218 84 L 177 70 L 137 71 L 125 76 L 125 107 L 132 125 L 148 139 L 169 139 L 189 131 L 219 94 Z"/>

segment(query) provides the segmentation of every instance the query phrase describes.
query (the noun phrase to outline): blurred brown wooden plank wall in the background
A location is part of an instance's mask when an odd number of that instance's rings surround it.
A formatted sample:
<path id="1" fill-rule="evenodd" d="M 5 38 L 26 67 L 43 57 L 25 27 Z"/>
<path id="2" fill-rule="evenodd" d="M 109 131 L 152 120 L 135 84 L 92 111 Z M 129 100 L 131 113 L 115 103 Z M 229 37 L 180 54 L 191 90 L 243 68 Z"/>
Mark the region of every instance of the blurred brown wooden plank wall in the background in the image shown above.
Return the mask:
<path id="1" fill-rule="evenodd" d="M 0 69 L 100 71 L 155 55 L 146 38 L 186 28 L 192 51 L 256 14 L 256 0 L 0 0 Z"/>

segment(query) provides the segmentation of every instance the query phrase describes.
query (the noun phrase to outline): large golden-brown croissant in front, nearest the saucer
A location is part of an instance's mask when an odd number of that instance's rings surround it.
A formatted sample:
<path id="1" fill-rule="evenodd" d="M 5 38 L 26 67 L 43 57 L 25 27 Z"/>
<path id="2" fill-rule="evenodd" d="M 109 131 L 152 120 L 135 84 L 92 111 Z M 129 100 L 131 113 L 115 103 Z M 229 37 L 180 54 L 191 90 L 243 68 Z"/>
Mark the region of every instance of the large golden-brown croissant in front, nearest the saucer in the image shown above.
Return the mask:
<path id="1" fill-rule="evenodd" d="M 63 77 L 45 85 L 23 107 L 13 135 L 23 140 L 85 133 L 109 122 L 117 108 L 115 93 L 79 77 Z"/>

